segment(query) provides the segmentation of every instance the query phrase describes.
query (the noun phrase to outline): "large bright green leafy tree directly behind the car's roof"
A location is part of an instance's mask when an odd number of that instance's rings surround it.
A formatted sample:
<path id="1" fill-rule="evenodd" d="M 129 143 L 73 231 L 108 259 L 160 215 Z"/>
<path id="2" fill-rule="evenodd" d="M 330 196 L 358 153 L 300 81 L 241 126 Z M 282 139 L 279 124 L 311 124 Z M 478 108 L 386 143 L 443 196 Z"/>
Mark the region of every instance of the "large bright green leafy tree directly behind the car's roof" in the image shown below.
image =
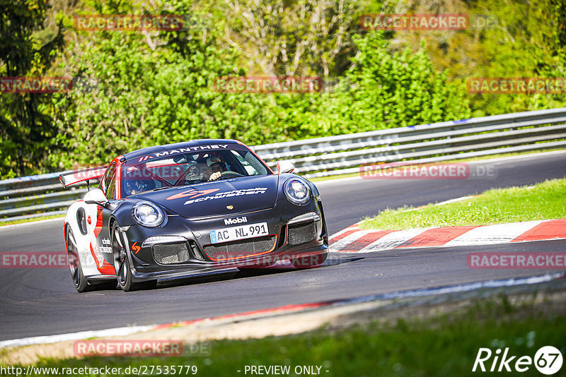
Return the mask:
<path id="1" fill-rule="evenodd" d="M 120 6 L 127 6 L 122 2 Z M 123 8 L 100 8 L 103 14 Z M 192 14 L 188 1 L 173 1 L 151 14 Z M 115 155 L 149 145 L 197 138 L 238 138 L 247 143 L 277 140 L 268 99 L 216 92 L 214 80 L 243 75 L 232 49 L 218 44 L 219 30 L 89 32 L 70 47 L 74 76 L 92 90 L 58 95 L 54 122 L 61 154 L 59 169 L 102 164 Z"/>

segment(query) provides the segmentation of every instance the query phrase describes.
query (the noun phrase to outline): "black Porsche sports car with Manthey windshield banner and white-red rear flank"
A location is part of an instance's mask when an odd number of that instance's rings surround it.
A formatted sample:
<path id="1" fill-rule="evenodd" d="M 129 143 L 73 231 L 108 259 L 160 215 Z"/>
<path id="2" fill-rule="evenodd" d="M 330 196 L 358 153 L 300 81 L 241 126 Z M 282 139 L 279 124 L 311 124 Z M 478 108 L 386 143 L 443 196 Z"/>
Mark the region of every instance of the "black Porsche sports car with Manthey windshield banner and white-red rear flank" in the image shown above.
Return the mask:
<path id="1" fill-rule="evenodd" d="M 219 268 L 323 263 L 328 234 L 314 184 L 278 162 L 277 174 L 236 140 L 192 140 L 116 157 L 59 177 L 100 179 L 64 222 L 79 292 L 154 287 Z"/>

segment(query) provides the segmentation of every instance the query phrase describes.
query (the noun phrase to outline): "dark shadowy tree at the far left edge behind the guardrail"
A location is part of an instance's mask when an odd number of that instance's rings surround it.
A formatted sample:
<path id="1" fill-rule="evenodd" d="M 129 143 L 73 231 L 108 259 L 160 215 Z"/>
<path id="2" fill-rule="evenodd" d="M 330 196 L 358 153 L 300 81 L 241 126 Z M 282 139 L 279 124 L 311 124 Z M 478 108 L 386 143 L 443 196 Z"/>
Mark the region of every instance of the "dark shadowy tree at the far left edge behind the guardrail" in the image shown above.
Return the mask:
<path id="1" fill-rule="evenodd" d="M 0 0 L 0 76 L 42 76 L 63 47 L 62 24 L 52 40 L 42 43 L 46 0 Z M 50 98 L 38 93 L 0 95 L 0 174 L 23 175 L 40 168 L 55 128 L 40 109 Z"/>

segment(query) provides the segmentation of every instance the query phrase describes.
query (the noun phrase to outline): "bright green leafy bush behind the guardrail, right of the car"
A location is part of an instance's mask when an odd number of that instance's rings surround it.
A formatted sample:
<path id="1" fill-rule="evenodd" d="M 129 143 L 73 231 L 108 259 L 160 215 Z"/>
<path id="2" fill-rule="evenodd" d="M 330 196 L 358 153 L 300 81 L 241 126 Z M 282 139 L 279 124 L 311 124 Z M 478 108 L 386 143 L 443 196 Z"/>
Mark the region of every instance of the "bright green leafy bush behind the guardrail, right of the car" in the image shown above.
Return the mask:
<path id="1" fill-rule="evenodd" d="M 383 32 L 354 37 L 358 53 L 345 74 L 344 88 L 329 95 L 317 128 L 332 134 L 371 131 L 465 119 L 465 93 L 437 72 L 421 49 L 397 52 Z"/>

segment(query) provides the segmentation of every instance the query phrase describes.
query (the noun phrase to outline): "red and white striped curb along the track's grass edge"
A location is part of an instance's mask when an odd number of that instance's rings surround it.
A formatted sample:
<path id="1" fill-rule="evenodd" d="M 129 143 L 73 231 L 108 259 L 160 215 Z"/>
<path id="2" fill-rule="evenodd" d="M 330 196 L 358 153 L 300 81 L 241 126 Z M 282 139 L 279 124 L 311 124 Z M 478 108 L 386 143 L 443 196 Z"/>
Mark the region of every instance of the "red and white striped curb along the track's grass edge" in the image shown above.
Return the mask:
<path id="1" fill-rule="evenodd" d="M 408 230 L 361 229 L 359 223 L 330 237 L 330 251 L 369 253 L 388 249 L 473 246 L 507 242 L 566 239 L 566 219 L 512 222 L 475 227 Z"/>

